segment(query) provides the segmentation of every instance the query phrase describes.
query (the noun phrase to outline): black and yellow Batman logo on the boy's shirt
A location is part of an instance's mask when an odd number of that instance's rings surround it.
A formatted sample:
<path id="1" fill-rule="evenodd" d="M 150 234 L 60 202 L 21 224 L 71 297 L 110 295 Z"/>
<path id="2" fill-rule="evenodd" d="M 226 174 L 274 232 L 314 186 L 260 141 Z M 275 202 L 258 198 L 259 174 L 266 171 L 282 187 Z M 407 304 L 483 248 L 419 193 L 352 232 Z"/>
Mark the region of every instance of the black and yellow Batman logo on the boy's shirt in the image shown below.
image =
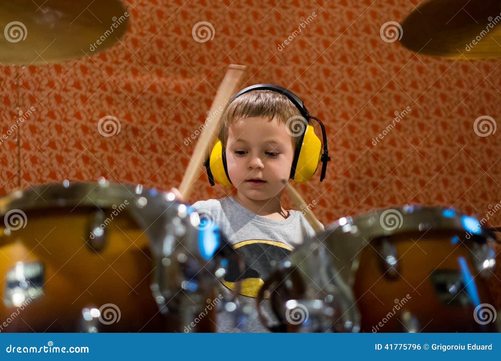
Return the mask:
<path id="1" fill-rule="evenodd" d="M 238 242 L 233 244 L 233 249 L 245 260 L 245 271 L 240 274 L 237 264 L 230 262 L 222 283 L 233 290 L 238 281 L 240 294 L 248 297 L 257 297 L 264 280 L 270 277 L 272 270 L 270 262 L 278 263 L 293 251 L 293 248 L 283 242 L 265 239 Z"/>

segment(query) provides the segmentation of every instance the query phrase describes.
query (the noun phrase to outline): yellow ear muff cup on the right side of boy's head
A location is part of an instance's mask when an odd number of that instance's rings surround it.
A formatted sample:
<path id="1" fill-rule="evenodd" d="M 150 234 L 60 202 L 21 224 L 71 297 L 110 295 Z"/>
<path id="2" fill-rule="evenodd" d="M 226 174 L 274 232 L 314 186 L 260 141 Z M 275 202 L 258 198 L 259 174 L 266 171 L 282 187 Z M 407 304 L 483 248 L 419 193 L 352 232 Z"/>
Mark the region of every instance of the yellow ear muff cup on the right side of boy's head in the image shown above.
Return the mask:
<path id="1" fill-rule="evenodd" d="M 313 126 L 308 125 L 303 143 L 299 146 L 301 146 L 301 151 L 293 179 L 296 182 L 305 183 L 313 177 L 322 157 L 322 142 L 315 134 Z"/>

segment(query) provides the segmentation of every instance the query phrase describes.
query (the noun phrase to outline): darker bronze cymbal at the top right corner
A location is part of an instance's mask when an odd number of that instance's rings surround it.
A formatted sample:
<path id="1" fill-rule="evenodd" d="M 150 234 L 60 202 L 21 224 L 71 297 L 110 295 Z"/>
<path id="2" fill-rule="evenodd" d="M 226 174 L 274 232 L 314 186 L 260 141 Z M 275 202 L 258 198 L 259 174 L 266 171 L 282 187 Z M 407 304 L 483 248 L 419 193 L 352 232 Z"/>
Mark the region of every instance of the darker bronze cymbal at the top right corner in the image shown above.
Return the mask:
<path id="1" fill-rule="evenodd" d="M 453 59 L 501 56 L 500 0 L 430 0 L 401 26 L 400 43 L 416 53 Z"/>

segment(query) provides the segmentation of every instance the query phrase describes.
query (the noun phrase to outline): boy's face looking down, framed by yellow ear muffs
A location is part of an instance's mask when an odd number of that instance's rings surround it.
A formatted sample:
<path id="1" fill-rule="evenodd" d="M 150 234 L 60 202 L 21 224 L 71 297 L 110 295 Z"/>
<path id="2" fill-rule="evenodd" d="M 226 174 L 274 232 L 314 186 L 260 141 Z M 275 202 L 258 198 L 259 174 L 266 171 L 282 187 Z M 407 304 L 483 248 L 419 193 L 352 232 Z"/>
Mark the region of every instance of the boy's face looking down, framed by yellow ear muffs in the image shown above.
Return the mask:
<path id="1" fill-rule="evenodd" d="M 281 180 L 289 179 L 293 157 L 292 138 L 286 124 L 275 119 L 238 118 L 228 128 L 229 178 L 238 192 L 249 199 L 276 196 L 284 187 Z"/>

